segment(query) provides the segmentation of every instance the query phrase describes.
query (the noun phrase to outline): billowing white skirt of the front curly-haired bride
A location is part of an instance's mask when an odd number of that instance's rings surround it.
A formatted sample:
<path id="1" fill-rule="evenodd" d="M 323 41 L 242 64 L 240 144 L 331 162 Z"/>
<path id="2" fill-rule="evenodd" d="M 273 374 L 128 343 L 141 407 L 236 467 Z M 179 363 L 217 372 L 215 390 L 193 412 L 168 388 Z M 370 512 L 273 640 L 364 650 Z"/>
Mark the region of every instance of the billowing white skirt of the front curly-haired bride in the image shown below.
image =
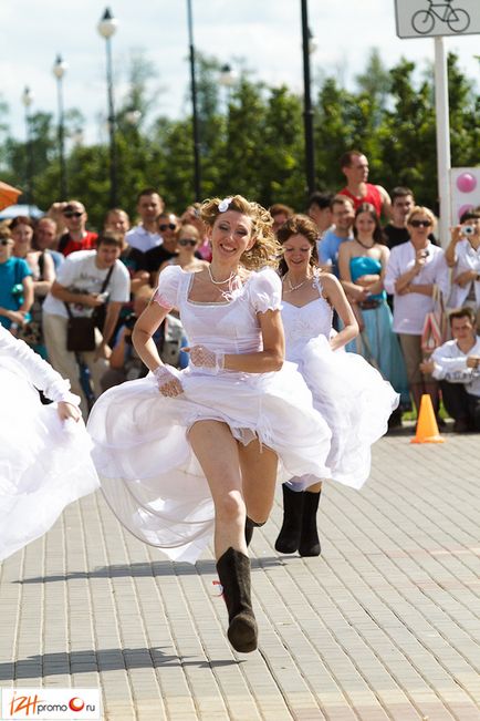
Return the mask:
<path id="1" fill-rule="evenodd" d="M 169 370 L 181 395 L 163 396 L 152 374 L 123 383 L 100 396 L 87 428 L 102 490 L 122 524 L 170 559 L 195 563 L 213 532 L 210 491 L 188 442 L 196 421 L 223 421 L 243 444 L 259 439 L 278 453 L 280 481 L 327 477 L 331 433 L 292 363 L 264 374 Z"/>

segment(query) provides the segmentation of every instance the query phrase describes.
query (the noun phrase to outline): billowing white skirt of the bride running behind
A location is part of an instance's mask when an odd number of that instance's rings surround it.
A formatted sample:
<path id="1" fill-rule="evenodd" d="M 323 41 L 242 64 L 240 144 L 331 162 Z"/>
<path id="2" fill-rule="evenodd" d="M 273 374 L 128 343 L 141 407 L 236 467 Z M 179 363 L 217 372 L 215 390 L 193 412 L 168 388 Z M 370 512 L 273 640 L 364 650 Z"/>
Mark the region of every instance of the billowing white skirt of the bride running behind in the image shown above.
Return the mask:
<path id="1" fill-rule="evenodd" d="M 371 473 L 371 446 L 387 432 L 399 394 L 362 356 L 333 351 L 324 336 L 293 347 L 289 359 L 298 363 L 332 431 L 331 478 L 361 488 Z M 301 491 L 317 481 L 306 475 L 291 483 Z"/>

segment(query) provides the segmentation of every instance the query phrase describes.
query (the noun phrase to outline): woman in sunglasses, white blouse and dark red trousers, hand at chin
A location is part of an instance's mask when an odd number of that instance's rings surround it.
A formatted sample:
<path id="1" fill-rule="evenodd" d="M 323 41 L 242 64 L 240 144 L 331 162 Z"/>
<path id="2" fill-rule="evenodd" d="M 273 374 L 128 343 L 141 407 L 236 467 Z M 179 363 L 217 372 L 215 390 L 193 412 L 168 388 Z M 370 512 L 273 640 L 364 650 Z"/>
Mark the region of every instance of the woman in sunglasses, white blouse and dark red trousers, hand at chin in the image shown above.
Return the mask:
<path id="1" fill-rule="evenodd" d="M 448 267 L 444 250 L 430 243 L 435 216 L 429 208 L 415 206 L 407 218 L 410 240 L 392 249 L 385 274 L 385 289 L 394 296 L 394 330 L 398 333 L 407 367 L 408 387 L 417 409 L 424 393 L 439 408 L 438 383 L 422 374 L 421 334 L 427 313 L 435 308 L 436 289 L 447 297 Z"/>

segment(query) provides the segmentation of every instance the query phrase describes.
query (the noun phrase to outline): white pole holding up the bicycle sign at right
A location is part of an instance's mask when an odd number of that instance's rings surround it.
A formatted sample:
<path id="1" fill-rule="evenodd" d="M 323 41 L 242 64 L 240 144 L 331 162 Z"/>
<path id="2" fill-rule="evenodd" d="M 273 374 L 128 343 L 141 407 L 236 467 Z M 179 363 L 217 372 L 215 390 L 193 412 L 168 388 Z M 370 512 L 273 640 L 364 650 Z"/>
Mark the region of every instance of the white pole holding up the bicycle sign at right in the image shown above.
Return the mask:
<path id="1" fill-rule="evenodd" d="M 440 202 L 440 243 L 445 248 L 450 240 L 450 117 L 448 104 L 448 71 L 444 38 L 435 38 L 435 110 L 437 115 L 437 172 Z"/>

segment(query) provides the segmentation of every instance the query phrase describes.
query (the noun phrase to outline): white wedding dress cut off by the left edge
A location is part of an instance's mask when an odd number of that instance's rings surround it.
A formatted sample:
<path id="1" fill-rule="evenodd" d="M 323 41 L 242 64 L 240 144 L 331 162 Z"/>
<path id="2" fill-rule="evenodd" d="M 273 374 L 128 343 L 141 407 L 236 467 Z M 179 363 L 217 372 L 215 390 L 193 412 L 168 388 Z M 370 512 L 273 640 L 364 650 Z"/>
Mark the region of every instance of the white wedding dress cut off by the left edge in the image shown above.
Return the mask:
<path id="1" fill-rule="evenodd" d="M 54 401 L 43 405 L 38 390 Z M 0 560 L 42 536 L 63 508 L 98 487 L 82 420 L 61 421 L 59 401 L 79 405 L 65 381 L 0 326 Z"/>

